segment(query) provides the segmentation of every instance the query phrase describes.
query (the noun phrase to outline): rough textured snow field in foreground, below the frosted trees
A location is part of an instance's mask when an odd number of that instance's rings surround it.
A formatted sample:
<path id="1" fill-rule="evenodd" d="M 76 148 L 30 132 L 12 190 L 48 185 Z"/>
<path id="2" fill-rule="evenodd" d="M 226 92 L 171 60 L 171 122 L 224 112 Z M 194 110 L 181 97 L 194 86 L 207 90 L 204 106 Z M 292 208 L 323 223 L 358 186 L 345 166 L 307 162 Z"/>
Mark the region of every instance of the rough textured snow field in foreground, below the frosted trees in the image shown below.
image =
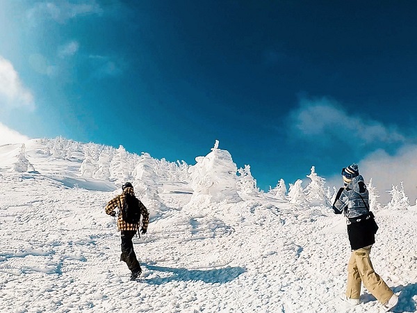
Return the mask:
<path id="1" fill-rule="evenodd" d="M 173 208 L 134 239 L 144 273 L 130 282 L 104 214 L 113 193 L 29 176 L 1 174 L 1 312 L 380 312 L 367 291 L 359 307 L 337 298 L 350 251 L 331 212 L 271 199 L 193 208 L 189 193 L 163 193 Z M 375 270 L 416 312 L 415 213 L 376 215 Z"/>

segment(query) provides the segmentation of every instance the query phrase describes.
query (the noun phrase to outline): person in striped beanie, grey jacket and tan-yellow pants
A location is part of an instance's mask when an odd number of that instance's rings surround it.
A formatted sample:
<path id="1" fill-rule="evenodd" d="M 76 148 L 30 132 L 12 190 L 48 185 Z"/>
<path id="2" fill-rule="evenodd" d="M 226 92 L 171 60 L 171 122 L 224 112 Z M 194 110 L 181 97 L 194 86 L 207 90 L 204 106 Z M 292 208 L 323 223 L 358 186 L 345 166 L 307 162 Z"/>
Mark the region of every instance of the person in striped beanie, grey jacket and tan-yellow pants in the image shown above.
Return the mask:
<path id="1" fill-rule="evenodd" d="M 398 296 L 387 286 L 370 262 L 370 249 L 375 243 L 378 226 L 369 210 L 369 194 L 357 164 L 343 168 L 344 186 L 334 200 L 335 214 L 345 214 L 347 234 L 352 254 L 347 264 L 347 287 L 341 298 L 352 305 L 359 304 L 361 284 L 382 303 L 386 311 L 398 303 Z"/>

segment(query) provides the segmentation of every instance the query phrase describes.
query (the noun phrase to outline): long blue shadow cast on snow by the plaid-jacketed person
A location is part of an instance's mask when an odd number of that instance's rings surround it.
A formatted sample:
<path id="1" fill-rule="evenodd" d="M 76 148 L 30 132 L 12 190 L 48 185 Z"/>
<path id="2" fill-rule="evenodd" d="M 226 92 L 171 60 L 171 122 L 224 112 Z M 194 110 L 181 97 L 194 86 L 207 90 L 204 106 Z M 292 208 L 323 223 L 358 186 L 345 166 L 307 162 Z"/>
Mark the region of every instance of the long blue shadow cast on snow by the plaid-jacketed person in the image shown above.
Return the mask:
<path id="1" fill-rule="evenodd" d="M 166 282 L 173 282 L 173 281 L 192 281 L 192 280 L 201 280 L 202 282 L 206 282 L 208 284 L 224 284 L 226 282 L 231 282 L 235 278 L 237 278 L 240 274 L 245 273 L 246 269 L 243 267 L 231 267 L 227 266 L 224 268 L 213 268 L 207 270 L 188 270 L 187 268 L 172 268 L 172 267 L 165 267 L 165 266 L 154 266 L 154 265 L 147 265 L 144 264 L 147 269 L 151 271 L 159 271 L 159 272 L 169 272 L 172 275 L 164 278 L 156 277 L 156 278 L 145 278 L 142 282 L 147 282 L 148 284 L 165 284 Z"/>

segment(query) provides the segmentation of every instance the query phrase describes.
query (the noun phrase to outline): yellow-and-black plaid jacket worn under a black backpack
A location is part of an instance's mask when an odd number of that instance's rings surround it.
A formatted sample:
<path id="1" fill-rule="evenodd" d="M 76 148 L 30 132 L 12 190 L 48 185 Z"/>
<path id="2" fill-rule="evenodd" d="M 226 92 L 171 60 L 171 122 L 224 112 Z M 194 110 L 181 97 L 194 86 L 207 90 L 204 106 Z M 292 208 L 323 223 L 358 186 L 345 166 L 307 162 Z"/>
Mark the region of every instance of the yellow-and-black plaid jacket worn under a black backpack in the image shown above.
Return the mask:
<path id="1" fill-rule="evenodd" d="M 135 193 L 133 193 L 133 188 L 125 188 L 121 195 L 117 195 L 117 197 L 113 198 L 108 202 L 105 211 L 106 214 L 112 215 L 113 212 L 115 212 L 115 209 L 119 208 L 119 215 L 117 216 L 117 228 L 119 228 L 119 230 L 138 230 L 139 224 L 126 223 L 122 217 L 122 207 L 124 203 L 124 198 L 126 197 L 126 193 L 129 193 L 130 195 L 135 195 Z M 149 224 L 149 213 L 145 205 L 143 205 L 143 203 L 140 200 L 139 207 L 140 214 L 142 215 L 142 228 L 144 230 L 147 230 Z"/>

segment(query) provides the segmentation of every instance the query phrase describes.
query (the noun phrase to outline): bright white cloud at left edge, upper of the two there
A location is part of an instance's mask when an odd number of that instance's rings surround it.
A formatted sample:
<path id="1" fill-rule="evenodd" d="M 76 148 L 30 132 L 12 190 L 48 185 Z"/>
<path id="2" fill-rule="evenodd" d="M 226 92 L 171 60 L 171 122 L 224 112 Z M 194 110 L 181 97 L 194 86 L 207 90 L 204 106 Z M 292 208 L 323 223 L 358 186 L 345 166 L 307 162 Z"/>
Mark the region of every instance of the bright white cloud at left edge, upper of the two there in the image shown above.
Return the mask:
<path id="1" fill-rule="evenodd" d="M 0 56 L 0 104 L 3 104 L 0 109 L 5 106 L 35 109 L 31 91 L 23 86 L 12 63 L 2 56 Z"/>

